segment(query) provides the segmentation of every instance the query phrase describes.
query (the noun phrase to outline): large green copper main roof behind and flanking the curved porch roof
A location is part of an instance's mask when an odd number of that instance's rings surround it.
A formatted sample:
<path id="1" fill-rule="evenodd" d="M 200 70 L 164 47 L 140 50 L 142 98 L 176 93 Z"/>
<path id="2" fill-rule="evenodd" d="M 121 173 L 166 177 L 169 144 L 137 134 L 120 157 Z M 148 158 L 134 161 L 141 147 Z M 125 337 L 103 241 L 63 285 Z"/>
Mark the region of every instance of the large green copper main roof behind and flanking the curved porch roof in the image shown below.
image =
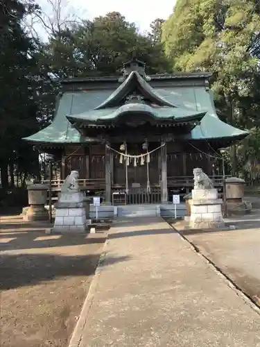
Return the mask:
<path id="1" fill-rule="evenodd" d="M 123 83 L 126 83 L 127 80 Z M 142 83 L 148 85 L 146 81 L 144 82 Z M 200 112 L 207 112 L 200 122 L 200 125 L 193 128 L 191 133 L 187 135 L 187 139 L 243 138 L 248 135 L 248 132 L 229 126 L 218 119 L 212 93 L 206 90 L 205 87 L 196 87 L 192 85 L 182 86 L 181 83 L 180 86 L 177 87 L 168 85 L 167 87 L 157 87 L 152 89 L 150 85 L 148 86 L 153 91 L 153 97 L 155 97 L 154 95 L 157 95 L 162 100 L 160 102 L 166 102 L 169 104 L 168 107 L 175 108 L 173 111 L 175 112 L 173 113 L 175 117 L 178 117 L 177 112 L 180 108 L 182 109 L 181 112 L 185 110 L 186 115 L 195 115 Z M 85 115 L 88 113 L 89 115 L 91 114 L 92 117 L 96 117 L 92 111 L 96 109 L 96 111 L 99 110 L 98 112 L 106 112 L 103 113 L 103 117 L 111 117 L 112 109 L 110 108 L 109 114 L 107 110 L 102 110 L 102 108 L 107 107 L 107 105 L 112 106 L 113 102 L 117 102 L 119 96 L 121 97 L 119 92 L 113 94 L 111 89 L 65 92 L 61 96 L 53 123 L 25 139 L 36 144 L 42 143 L 54 145 L 92 141 L 93 139 L 90 139 L 89 137 L 81 137 L 78 130 L 71 126 L 67 116 Z M 149 97 L 151 97 L 151 95 Z M 104 103 L 104 101 L 106 103 Z M 163 112 L 166 111 L 162 110 L 161 115 Z M 101 114 L 99 114 L 98 117 L 101 117 Z M 170 115 L 169 117 L 172 116 Z"/>

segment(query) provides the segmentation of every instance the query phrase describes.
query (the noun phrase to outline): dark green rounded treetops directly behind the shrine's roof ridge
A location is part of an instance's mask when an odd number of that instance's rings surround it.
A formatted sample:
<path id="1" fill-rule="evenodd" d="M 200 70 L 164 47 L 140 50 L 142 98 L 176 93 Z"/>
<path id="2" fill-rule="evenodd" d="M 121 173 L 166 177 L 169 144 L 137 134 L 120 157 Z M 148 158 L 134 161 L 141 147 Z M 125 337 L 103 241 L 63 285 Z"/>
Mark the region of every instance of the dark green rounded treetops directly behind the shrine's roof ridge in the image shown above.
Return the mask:
<path id="1" fill-rule="evenodd" d="M 65 28 L 51 37 L 46 52 L 59 77 L 121 74 L 123 62 L 133 52 L 146 62 L 150 74 L 169 68 L 161 44 L 137 33 L 135 24 L 119 12 Z"/>

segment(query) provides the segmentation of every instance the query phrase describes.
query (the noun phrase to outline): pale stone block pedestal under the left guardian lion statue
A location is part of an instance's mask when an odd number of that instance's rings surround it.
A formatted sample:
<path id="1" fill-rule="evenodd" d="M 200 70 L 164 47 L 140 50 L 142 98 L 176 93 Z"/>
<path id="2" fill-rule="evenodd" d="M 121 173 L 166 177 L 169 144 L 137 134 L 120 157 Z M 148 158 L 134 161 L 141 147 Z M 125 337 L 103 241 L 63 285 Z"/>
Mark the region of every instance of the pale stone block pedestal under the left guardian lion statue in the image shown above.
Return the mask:
<path id="1" fill-rule="evenodd" d="M 61 192 L 55 204 L 55 222 L 51 232 L 87 232 L 89 219 L 86 213 L 89 208 L 84 200 L 83 193 L 78 190 Z"/>

